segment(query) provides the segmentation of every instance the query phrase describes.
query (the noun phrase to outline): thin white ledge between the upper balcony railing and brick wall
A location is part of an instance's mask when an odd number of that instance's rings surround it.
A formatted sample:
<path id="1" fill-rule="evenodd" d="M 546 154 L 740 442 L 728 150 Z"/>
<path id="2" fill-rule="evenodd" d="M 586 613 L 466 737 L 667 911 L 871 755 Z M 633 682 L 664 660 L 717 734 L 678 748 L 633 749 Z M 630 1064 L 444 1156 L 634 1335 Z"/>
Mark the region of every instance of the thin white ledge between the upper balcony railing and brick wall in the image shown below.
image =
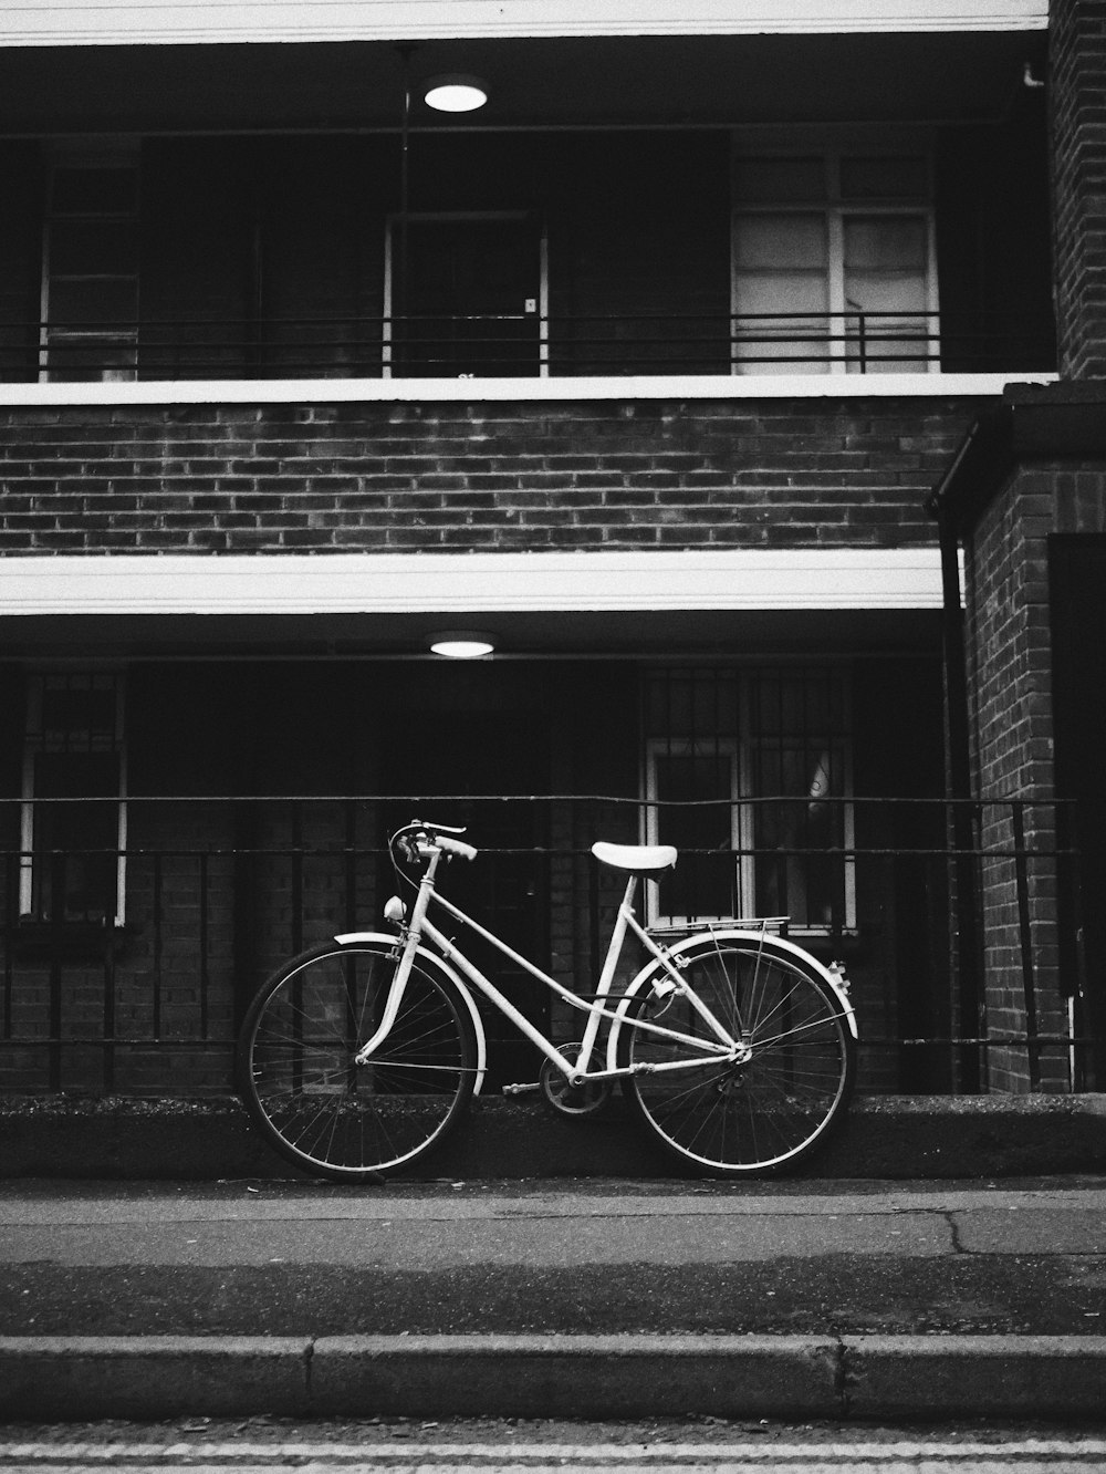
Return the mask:
<path id="1" fill-rule="evenodd" d="M 611 374 L 557 379 L 181 379 L 1 383 L 0 408 L 141 404 L 401 404 L 530 399 L 910 399 L 1000 395 L 1054 373 Z"/>

